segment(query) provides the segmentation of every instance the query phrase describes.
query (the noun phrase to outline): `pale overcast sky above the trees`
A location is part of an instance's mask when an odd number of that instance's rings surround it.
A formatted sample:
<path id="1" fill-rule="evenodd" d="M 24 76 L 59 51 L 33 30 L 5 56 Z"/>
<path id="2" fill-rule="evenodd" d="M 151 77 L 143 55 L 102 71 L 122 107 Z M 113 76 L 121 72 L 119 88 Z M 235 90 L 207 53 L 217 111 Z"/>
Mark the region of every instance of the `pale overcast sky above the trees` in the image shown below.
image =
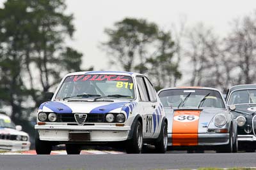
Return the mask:
<path id="1" fill-rule="evenodd" d="M 204 22 L 218 34 L 226 34 L 234 18 L 253 13 L 255 9 L 255 0 L 67 0 L 67 11 L 74 13 L 76 26 L 74 41 L 68 44 L 84 53 L 83 68 L 110 70 L 115 69 L 108 66 L 111 56 L 106 56 L 99 44 L 106 40 L 104 29 L 124 17 L 145 18 L 171 29 L 172 23 L 179 22 L 180 15 L 186 15 L 188 25 Z"/>

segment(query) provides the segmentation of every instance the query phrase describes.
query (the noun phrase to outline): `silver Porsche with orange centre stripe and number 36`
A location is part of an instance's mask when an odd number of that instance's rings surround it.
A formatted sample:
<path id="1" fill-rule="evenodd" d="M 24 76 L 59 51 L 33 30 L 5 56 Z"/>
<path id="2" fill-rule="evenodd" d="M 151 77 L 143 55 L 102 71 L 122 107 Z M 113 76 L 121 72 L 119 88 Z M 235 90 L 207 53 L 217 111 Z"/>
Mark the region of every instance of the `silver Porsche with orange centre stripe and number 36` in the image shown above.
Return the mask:
<path id="1" fill-rule="evenodd" d="M 221 92 L 208 87 L 177 87 L 158 92 L 168 119 L 173 150 L 237 152 L 237 122 Z"/>

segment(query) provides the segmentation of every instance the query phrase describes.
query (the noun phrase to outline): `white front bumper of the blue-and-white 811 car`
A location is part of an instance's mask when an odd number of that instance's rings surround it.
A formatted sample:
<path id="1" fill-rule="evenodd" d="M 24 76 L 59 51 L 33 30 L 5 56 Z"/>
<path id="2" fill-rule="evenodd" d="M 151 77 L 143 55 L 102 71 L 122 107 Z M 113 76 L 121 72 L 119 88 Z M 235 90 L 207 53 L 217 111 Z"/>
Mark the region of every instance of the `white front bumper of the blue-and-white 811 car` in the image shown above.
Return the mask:
<path id="1" fill-rule="evenodd" d="M 35 125 L 39 138 L 43 141 L 70 141 L 70 132 L 88 132 L 90 140 L 86 142 L 125 141 L 131 127 L 115 125 Z"/>

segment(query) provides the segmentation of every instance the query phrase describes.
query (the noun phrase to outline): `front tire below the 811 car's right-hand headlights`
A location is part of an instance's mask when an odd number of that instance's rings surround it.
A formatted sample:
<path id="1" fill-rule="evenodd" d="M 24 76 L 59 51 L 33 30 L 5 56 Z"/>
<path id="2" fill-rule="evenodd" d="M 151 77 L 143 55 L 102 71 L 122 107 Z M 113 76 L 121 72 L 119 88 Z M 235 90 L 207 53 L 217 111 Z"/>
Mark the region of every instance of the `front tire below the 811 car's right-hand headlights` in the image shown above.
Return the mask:
<path id="1" fill-rule="evenodd" d="M 138 121 L 134 126 L 132 138 L 126 141 L 125 150 L 127 153 L 141 153 L 143 146 L 142 125 Z"/>

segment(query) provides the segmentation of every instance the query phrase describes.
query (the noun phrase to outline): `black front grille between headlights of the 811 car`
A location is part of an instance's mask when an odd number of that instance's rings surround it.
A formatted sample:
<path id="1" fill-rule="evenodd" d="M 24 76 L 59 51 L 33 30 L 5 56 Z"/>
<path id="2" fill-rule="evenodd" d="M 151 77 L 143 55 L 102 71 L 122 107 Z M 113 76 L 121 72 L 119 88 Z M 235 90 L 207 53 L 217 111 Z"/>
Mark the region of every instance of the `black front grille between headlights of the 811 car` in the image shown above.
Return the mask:
<path id="1" fill-rule="evenodd" d="M 58 114 L 58 122 L 69 122 L 69 123 L 75 122 L 76 123 L 75 114 L 74 113 Z M 94 113 L 87 114 L 85 123 L 101 123 L 101 122 L 104 122 L 104 114 L 94 114 Z"/>

